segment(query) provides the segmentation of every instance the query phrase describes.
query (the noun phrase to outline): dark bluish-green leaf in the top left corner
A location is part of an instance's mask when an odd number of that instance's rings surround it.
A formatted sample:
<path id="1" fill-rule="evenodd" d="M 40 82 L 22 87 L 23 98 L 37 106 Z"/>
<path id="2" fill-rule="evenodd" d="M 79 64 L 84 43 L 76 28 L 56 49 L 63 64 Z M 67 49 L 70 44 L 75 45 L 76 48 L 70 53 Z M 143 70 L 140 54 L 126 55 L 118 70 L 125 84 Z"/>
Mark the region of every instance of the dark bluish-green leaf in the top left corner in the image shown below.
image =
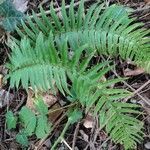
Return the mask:
<path id="1" fill-rule="evenodd" d="M 0 17 L 0 26 L 7 31 L 13 31 L 21 23 L 24 14 L 16 10 L 11 0 L 5 0 L 0 3 Z"/>

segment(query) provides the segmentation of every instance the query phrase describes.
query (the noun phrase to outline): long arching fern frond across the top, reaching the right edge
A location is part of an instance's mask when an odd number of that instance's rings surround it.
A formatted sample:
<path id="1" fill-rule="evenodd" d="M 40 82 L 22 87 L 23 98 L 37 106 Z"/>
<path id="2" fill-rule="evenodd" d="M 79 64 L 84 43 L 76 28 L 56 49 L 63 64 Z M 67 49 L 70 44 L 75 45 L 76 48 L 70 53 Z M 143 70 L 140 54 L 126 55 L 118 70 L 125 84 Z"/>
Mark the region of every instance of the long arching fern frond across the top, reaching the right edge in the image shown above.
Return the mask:
<path id="1" fill-rule="evenodd" d="M 120 55 L 123 59 L 131 59 L 150 72 L 149 42 L 145 36 L 150 30 L 141 28 L 142 23 L 134 23 L 129 19 L 123 6 L 112 5 L 104 10 L 104 5 L 94 4 L 88 11 L 84 10 L 84 0 L 77 11 L 74 10 L 74 0 L 71 1 L 69 11 L 62 1 L 61 18 L 57 16 L 53 4 L 50 7 L 50 17 L 47 17 L 42 7 L 41 18 L 33 12 L 33 20 L 27 17 L 28 25 L 22 21 L 24 33 L 17 29 L 21 37 L 27 35 L 35 41 L 39 32 L 46 37 L 51 31 L 55 40 L 68 37 L 73 49 L 78 45 L 89 43 L 89 47 L 96 49 L 99 54 L 107 56 Z M 123 14 L 122 14 L 123 13 Z"/>

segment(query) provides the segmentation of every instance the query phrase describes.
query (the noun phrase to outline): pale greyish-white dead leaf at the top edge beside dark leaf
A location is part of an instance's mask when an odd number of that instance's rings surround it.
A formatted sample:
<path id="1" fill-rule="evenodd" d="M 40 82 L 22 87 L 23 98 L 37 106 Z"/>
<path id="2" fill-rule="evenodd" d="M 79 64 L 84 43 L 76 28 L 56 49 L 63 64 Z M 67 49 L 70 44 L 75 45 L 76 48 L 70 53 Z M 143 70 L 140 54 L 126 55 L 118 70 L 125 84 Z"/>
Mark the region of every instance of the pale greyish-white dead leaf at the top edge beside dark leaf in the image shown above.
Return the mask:
<path id="1" fill-rule="evenodd" d="M 15 8 L 22 13 L 26 12 L 28 9 L 28 0 L 14 0 L 13 4 Z"/>

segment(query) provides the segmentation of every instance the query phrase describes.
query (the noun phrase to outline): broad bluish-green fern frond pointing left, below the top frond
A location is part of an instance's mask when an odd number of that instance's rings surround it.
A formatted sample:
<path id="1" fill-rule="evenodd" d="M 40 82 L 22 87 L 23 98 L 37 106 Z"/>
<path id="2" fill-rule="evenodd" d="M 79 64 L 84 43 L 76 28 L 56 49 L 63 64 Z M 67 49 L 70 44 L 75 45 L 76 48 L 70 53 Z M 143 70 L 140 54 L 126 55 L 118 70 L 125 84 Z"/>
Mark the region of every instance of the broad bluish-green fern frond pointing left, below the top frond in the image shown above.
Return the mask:
<path id="1" fill-rule="evenodd" d="M 67 41 L 55 46 L 52 34 L 45 40 L 43 34 L 40 33 L 35 46 L 32 46 L 27 38 L 22 39 L 20 45 L 12 42 L 10 63 L 7 64 L 10 69 L 8 75 L 10 86 L 18 87 L 21 81 L 25 89 L 31 85 L 41 90 L 50 88 L 54 90 L 56 84 L 63 94 L 64 91 L 69 93 L 67 73 L 78 70 L 79 60 L 85 47 L 80 47 L 70 59 Z M 80 73 L 84 72 L 89 61 L 90 59 Z"/>

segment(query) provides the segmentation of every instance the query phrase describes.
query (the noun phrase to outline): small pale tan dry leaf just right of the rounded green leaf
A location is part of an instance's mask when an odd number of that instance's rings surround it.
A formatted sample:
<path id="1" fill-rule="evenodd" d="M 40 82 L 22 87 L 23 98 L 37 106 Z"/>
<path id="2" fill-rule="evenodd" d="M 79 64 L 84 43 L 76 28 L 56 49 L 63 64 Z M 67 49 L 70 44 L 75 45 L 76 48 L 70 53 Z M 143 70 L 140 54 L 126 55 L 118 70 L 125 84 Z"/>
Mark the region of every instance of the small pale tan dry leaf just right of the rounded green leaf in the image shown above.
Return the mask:
<path id="1" fill-rule="evenodd" d="M 91 114 L 88 114 L 83 122 L 85 128 L 93 128 L 94 126 L 94 118 Z"/>

